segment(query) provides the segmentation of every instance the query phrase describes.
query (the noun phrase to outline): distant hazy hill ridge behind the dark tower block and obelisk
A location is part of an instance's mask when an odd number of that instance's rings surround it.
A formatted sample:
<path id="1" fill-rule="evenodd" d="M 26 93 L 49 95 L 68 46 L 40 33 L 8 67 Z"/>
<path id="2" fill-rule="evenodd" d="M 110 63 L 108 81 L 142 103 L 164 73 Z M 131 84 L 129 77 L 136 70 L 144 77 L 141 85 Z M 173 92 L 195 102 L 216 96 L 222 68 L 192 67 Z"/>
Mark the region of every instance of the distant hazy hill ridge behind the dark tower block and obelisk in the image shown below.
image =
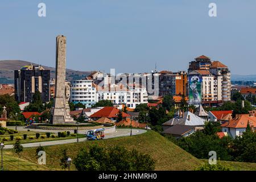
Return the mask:
<path id="1" fill-rule="evenodd" d="M 23 60 L 0 60 L 0 83 L 12 84 L 14 82 L 14 70 L 18 70 L 26 65 L 36 64 Z M 51 71 L 51 78 L 55 78 L 55 68 L 42 65 L 44 69 Z M 75 71 L 67 69 L 66 79 L 68 81 L 84 78 L 90 75 L 90 71 Z"/>

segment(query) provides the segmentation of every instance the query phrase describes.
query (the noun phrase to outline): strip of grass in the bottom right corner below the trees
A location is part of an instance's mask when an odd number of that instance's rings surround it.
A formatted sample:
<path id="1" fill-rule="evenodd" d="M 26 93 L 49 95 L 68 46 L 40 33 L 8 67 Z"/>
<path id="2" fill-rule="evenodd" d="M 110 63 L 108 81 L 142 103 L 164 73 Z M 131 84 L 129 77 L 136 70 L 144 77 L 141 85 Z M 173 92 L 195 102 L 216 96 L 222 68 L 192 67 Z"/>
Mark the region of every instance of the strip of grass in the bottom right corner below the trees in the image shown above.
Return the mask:
<path id="1" fill-rule="evenodd" d="M 207 159 L 201 159 L 203 162 L 208 163 Z M 220 163 L 224 166 L 230 167 L 232 171 L 256 171 L 256 163 L 245 163 L 245 162 L 233 162 L 233 161 L 224 161 L 217 160 L 217 163 Z"/>

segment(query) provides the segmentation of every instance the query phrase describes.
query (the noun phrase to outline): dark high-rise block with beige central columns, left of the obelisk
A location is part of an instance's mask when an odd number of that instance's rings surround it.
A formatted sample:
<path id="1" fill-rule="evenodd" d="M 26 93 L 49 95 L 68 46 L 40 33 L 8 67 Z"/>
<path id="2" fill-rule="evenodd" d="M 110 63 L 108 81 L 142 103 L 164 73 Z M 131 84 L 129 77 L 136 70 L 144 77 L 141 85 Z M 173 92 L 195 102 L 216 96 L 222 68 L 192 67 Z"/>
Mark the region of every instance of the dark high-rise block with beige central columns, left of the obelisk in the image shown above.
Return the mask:
<path id="1" fill-rule="evenodd" d="M 50 71 L 40 65 L 27 65 L 14 71 L 15 99 L 32 102 L 36 91 L 41 93 L 43 102 L 50 100 Z"/>

